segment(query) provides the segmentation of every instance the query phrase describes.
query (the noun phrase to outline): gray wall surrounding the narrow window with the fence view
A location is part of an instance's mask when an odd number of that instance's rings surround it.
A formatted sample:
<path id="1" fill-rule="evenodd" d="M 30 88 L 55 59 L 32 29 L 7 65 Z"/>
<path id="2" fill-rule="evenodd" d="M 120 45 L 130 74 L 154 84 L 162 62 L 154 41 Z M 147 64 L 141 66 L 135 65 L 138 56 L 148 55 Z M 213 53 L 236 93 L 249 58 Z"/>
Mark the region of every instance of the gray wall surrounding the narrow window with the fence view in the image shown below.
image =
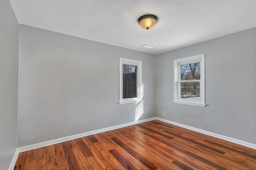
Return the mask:
<path id="1" fill-rule="evenodd" d="M 24 25 L 19 47 L 19 147 L 155 116 L 154 55 Z M 143 103 L 118 104 L 119 57 L 142 61 Z"/>

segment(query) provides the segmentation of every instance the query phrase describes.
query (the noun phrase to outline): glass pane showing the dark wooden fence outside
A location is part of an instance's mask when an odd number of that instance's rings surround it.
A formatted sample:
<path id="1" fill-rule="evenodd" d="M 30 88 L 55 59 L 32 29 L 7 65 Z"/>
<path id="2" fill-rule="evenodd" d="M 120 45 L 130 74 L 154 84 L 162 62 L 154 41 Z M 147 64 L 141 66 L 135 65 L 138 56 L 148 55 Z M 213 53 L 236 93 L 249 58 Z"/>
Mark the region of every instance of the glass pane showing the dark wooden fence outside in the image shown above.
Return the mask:
<path id="1" fill-rule="evenodd" d="M 123 99 L 137 97 L 137 66 L 123 64 Z"/>

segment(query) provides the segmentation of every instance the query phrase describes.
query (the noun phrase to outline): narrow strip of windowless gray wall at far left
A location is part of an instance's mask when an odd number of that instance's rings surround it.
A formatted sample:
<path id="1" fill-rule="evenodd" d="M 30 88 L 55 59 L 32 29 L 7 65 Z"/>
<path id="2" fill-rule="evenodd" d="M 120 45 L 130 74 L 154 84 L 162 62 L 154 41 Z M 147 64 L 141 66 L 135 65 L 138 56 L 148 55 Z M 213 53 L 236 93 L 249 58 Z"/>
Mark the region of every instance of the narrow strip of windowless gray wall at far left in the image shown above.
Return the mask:
<path id="1" fill-rule="evenodd" d="M 0 0 L 0 169 L 17 148 L 18 30 L 10 0 Z"/>

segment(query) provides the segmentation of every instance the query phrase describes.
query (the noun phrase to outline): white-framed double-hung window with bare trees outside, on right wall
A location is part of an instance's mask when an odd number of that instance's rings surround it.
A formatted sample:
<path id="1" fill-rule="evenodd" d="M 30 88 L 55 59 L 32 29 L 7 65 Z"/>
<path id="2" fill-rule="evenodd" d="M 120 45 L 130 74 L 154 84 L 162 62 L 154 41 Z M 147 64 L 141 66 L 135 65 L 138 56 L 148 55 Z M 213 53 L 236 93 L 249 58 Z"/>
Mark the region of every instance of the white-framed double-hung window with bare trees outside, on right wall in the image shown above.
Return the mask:
<path id="1" fill-rule="evenodd" d="M 205 107 L 204 54 L 174 60 L 174 103 Z"/>

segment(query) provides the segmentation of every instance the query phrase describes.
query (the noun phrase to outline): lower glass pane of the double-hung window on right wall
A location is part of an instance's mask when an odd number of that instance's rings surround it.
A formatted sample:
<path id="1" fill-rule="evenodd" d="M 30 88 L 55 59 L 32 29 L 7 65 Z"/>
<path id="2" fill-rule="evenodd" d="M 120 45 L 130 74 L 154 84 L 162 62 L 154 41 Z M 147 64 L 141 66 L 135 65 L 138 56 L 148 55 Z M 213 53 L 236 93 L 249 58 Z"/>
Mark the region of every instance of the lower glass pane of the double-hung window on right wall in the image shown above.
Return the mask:
<path id="1" fill-rule="evenodd" d="M 180 98 L 200 99 L 200 83 L 180 83 Z"/>

